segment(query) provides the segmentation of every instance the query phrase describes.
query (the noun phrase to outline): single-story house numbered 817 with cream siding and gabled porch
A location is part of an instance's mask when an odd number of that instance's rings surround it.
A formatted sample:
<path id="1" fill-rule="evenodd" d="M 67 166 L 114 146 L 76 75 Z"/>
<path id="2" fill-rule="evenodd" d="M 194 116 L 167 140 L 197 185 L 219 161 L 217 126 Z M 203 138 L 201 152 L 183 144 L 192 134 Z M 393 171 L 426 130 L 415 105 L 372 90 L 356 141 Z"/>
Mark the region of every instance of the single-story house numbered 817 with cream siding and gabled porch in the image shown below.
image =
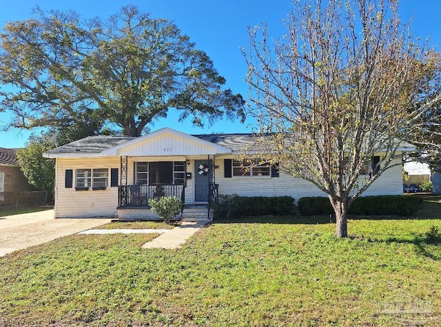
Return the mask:
<path id="1" fill-rule="evenodd" d="M 184 219 L 205 220 L 209 200 L 218 195 L 325 196 L 276 167 L 244 170 L 238 155 L 252 141 L 251 134 L 187 135 L 162 128 L 142 137 L 87 137 L 49 150 L 43 156 L 57 159 L 55 217 L 154 218 L 147 199 L 175 195 L 185 202 Z M 413 149 L 400 149 L 406 150 Z M 364 195 L 402 195 L 401 158 L 394 163 Z"/>

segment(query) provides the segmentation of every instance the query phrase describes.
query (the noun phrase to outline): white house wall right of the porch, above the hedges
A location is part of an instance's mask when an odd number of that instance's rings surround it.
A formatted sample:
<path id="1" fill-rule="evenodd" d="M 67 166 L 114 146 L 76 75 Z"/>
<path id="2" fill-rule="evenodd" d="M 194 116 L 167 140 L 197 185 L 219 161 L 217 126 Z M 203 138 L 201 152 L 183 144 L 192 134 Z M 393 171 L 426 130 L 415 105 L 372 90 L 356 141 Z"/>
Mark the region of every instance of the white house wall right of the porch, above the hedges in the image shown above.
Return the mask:
<path id="1" fill-rule="evenodd" d="M 237 194 L 246 197 L 284 196 L 294 197 L 297 202 L 301 197 L 325 197 L 325 192 L 304 179 L 297 179 L 280 172 L 280 177 L 224 177 L 224 157 L 216 159 L 216 184 L 219 194 Z M 400 163 L 396 159 L 393 163 Z M 360 176 L 360 186 L 366 177 Z M 402 195 L 402 166 L 389 168 L 362 194 L 368 195 Z"/>

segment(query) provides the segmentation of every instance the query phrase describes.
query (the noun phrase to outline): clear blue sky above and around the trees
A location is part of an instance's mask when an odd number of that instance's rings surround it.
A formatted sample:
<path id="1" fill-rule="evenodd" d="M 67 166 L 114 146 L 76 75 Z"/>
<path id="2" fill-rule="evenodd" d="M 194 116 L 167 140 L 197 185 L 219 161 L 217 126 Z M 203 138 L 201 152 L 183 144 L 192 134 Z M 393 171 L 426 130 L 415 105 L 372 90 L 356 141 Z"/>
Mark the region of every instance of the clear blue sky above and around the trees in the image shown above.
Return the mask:
<path id="1" fill-rule="evenodd" d="M 174 21 L 178 28 L 207 52 L 214 66 L 227 79 L 227 88 L 248 97 L 245 83 L 247 68 L 240 47 L 248 46 L 248 26 L 267 23 L 271 37 L 281 37 L 285 32 L 282 19 L 291 8 L 291 0 L 0 0 L 0 28 L 6 22 L 24 20 L 32 16 L 32 8 L 43 10 L 75 10 L 86 18 L 109 17 L 121 6 L 134 4 L 152 17 Z M 402 0 L 400 14 L 404 21 L 413 16 L 412 30 L 417 37 L 430 37 L 430 43 L 441 50 L 441 1 Z M 8 114 L 0 113 L 0 126 L 9 121 Z M 218 121 L 214 126 L 194 128 L 189 121 L 178 123 L 174 115 L 156 121 L 151 130 L 168 126 L 190 134 L 211 132 L 249 132 L 253 121 L 245 124 Z M 30 132 L 11 130 L 0 132 L 0 147 L 19 148 L 28 140 Z"/>

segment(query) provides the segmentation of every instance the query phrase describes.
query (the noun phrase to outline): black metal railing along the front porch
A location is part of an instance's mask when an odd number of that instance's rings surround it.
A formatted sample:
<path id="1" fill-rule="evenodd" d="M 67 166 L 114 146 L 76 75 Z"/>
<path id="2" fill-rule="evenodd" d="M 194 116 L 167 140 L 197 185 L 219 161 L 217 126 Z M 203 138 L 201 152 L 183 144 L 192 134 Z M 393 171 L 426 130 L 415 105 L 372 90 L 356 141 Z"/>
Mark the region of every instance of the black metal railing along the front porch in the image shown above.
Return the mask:
<path id="1" fill-rule="evenodd" d="M 178 197 L 184 201 L 182 184 L 162 184 L 162 192 L 156 192 L 155 185 L 122 185 L 118 186 L 119 207 L 148 207 L 149 199 L 155 197 Z"/>

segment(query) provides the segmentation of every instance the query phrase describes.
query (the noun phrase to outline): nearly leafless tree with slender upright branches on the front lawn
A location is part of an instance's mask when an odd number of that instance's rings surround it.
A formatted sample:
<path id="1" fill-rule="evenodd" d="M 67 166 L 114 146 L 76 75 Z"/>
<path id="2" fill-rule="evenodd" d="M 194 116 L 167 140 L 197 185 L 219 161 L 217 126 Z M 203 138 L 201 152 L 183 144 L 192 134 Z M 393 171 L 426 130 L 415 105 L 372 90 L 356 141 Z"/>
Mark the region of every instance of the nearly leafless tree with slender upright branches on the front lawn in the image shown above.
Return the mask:
<path id="1" fill-rule="evenodd" d="M 397 10 L 392 0 L 297 0 L 287 34 L 274 41 L 265 25 L 252 28 L 244 51 L 260 159 L 326 192 L 338 237 L 347 237 L 353 199 L 397 164 L 400 140 L 440 99 L 427 97 L 440 57 L 413 39 Z"/>

